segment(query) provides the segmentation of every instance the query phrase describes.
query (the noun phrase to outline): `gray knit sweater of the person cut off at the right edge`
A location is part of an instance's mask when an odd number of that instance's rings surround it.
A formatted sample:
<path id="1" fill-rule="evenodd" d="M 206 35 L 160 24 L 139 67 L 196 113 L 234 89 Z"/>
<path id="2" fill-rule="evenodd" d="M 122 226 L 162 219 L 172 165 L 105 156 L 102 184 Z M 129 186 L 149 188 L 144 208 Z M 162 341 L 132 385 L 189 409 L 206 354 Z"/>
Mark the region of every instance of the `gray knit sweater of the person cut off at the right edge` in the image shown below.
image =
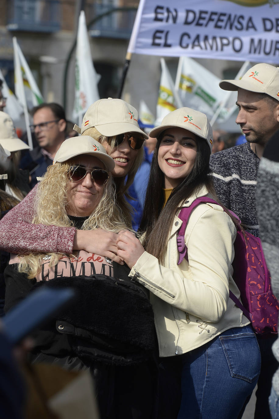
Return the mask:
<path id="1" fill-rule="evenodd" d="M 271 274 L 271 287 L 279 299 L 279 131 L 267 143 L 261 159 L 256 204 L 264 256 Z M 279 338 L 273 344 L 272 351 L 279 361 Z M 279 370 L 273 376 L 272 385 L 279 395 Z"/>

